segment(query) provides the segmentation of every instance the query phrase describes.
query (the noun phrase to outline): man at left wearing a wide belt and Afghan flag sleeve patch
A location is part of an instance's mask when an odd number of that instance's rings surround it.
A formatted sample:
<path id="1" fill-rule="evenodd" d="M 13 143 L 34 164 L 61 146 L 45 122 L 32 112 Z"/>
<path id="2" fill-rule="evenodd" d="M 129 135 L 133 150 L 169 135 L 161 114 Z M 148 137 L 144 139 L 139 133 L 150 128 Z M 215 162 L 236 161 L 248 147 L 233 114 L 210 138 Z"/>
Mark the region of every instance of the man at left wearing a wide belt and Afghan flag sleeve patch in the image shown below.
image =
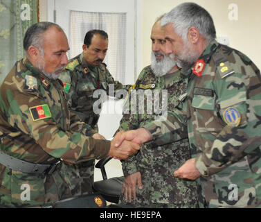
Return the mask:
<path id="1" fill-rule="evenodd" d="M 135 144 L 93 139 L 95 132 L 69 111 L 62 82 L 69 50 L 60 26 L 40 22 L 24 37 L 26 58 L 1 85 L 0 207 L 33 207 L 71 197 L 69 163 L 136 153 Z M 117 135 L 116 135 L 117 137 Z"/>

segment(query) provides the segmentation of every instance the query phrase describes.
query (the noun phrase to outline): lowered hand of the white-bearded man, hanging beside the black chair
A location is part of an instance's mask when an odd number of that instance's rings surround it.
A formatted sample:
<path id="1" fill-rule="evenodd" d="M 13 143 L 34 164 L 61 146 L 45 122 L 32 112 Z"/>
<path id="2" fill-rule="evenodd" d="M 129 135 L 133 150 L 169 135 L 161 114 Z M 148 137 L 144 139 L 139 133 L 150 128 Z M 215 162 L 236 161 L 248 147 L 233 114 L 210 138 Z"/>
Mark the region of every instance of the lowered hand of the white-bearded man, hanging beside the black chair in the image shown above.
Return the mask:
<path id="1" fill-rule="evenodd" d="M 133 197 L 133 200 L 136 200 L 136 186 L 137 185 L 138 185 L 138 189 L 143 188 L 140 172 L 136 172 L 136 173 L 133 173 L 133 174 L 125 177 L 124 182 L 123 182 L 122 193 L 125 196 L 125 200 L 126 201 L 129 200 L 129 203 L 132 202 L 132 197 Z"/>

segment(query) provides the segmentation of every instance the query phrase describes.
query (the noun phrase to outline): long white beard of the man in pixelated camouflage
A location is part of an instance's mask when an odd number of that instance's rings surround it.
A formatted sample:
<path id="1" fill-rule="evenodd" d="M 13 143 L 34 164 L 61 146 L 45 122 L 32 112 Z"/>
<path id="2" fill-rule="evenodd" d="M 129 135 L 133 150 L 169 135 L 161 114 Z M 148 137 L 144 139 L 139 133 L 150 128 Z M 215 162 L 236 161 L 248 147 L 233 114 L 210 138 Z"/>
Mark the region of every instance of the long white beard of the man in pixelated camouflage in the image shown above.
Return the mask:
<path id="1" fill-rule="evenodd" d="M 156 56 L 164 56 L 163 60 L 156 60 Z M 168 72 L 177 64 L 174 60 L 174 55 L 170 54 L 166 56 L 161 52 L 154 52 L 152 51 L 151 56 L 152 64 L 151 68 L 155 76 L 164 76 L 168 74 Z"/>

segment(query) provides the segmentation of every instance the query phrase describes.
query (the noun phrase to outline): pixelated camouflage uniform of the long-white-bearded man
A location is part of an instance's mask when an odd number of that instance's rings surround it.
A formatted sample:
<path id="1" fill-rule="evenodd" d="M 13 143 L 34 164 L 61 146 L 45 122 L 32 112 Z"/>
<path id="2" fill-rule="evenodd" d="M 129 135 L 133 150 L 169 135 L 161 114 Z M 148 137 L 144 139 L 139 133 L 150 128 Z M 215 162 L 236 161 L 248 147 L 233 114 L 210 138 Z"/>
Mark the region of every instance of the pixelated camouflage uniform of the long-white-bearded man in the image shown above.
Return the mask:
<path id="1" fill-rule="evenodd" d="M 183 79 L 180 71 L 156 77 L 148 66 L 141 71 L 133 88 L 136 89 L 137 94 L 138 90 L 145 94 L 144 113 L 141 112 L 141 105 L 138 104 L 138 101 L 143 101 L 143 97 L 140 98 L 138 95 L 135 104 L 132 101 L 134 97 L 132 90 L 129 98 L 126 99 L 129 112 L 123 115 L 119 130 L 141 128 L 150 121 L 154 121 L 157 117 L 156 113 L 159 114 L 159 110 L 156 110 L 158 103 L 161 104 L 160 108 L 164 110 L 164 99 L 166 100 L 165 104 L 168 104 L 168 110 L 174 110 L 183 90 Z M 150 97 L 150 92 L 152 97 Z M 155 96 L 157 92 L 159 92 L 158 97 Z M 132 114 L 134 111 L 132 106 L 136 108 L 136 114 Z M 147 109 L 148 106 L 154 107 L 153 112 Z M 181 110 L 177 110 L 177 114 L 182 117 Z M 161 114 L 161 116 L 163 115 Z M 183 135 L 176 142 L 156 147 L 152 144 L 145 144 L 138 154 L 123 161 L 125 177 L 132 173 L 141 173 L 143 189 L 136 189 L 136 200 L 132 200 L 132 205 L 135 207 L 197 207 L 196 182 L 181 180 L 173 176 L 174 170 L 190 158 L 188 134 L 185 127 Z M 124 194 L 120 196 L 120 203 L 126 204 Z"/>

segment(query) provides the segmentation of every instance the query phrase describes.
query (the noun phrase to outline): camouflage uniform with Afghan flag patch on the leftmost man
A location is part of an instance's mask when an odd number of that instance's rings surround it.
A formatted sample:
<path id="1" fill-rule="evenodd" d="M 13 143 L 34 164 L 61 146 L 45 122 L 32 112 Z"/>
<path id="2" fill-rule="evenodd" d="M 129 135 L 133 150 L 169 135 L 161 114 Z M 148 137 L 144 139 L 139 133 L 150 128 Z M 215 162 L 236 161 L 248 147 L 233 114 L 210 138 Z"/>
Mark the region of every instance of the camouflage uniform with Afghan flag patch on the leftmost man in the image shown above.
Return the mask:
<path id="1" fill-rule="evenodd" d="M 38 164 L 106 157 L 110 142 L 87 137 L 91 128 L 69 111 L 65 97 L 60 80 L 49 80 L 26 58 L 17 62 L 1 85 L 0 151 Z M 0 207 L 45 205 L 71 196 L 63 162 L 51 174 L 22 173 L 2 164 L 0 172 Z"/>

